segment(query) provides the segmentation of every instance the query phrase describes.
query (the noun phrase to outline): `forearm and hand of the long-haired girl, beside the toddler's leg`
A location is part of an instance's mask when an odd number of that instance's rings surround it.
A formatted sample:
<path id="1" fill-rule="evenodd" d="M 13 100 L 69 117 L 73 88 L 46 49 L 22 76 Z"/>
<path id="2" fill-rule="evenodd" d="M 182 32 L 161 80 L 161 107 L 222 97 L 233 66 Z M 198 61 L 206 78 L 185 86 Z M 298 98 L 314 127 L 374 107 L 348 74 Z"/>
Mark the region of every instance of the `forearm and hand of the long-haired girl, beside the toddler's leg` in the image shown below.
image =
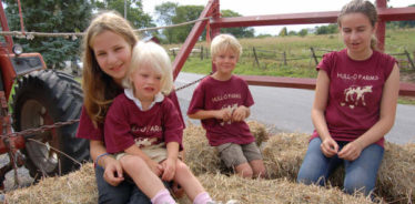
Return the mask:
<path id="1" fill-rule="evenodd" d="M 107 149 L 102 141 L 90 140 L 90 154 L 95 162 L 99 155 L 107 153 Z M 97 165 L 104 169 L 103 178 L 111 185 L 117 186 L 124 177 L 122 175 L 122 167 L 119 161 L 110 155 L 104 155 L 97 161 Z"/>

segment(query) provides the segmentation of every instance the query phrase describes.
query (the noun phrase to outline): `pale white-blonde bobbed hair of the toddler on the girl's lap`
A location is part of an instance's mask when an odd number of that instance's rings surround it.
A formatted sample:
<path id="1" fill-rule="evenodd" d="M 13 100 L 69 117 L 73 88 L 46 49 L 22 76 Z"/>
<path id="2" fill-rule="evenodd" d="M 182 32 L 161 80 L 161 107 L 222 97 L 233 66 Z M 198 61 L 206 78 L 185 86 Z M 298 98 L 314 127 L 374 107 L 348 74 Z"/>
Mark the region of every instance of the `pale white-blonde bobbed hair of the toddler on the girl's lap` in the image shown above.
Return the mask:
<path id="1" fill-rule="evenodd" d="M 173 69 L 168 52 L 154 42 L 139 42 L 134 45 L 131 63 L 122 82 L 124 88 L 133 89 L 130 75 L 148 65 L 161 74 L 161 92 L 169 94 L 173 89 Z"/>

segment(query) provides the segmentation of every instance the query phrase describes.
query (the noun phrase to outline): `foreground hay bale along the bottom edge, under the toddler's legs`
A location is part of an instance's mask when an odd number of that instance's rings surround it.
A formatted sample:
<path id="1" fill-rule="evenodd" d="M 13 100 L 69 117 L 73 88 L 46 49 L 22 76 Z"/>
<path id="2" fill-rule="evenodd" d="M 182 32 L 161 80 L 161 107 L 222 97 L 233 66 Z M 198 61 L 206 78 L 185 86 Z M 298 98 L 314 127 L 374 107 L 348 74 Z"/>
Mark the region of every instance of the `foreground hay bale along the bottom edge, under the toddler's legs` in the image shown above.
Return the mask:
<path id="1" fill-rule="evenodd" d="M 287 180 L 245 180 L 223 174 L 198 176 L 205 190 L 219 202 L 236 200 L 240 204 L 251 203 L 371 203 L 363 196 L 352 196 L 337 188 L 307 186 Z M 82 203 L 93 204 L 98 192 L 92 163 L 62 177 L 48 177 L 37 185 L 8 192 L 9 204 L 14 203 Z M 191 204 L 186 197 L 178 201 Z"/>

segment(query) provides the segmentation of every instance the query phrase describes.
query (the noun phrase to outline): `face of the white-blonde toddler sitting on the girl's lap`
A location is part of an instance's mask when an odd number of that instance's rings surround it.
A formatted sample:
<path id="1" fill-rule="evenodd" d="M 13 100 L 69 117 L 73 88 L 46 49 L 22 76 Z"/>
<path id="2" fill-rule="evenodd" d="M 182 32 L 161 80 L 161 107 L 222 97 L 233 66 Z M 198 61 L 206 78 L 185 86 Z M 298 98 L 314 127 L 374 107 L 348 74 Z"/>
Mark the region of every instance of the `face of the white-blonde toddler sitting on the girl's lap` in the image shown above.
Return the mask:
<path id="1" fill-rule="evenodd" d="M 162 74 L 148 63 L 140 64 L 140 67 L 130 79 L 134 86 L 134 96 L 140 101 L 153 101 L 154 95 L 161 90 Z"/>

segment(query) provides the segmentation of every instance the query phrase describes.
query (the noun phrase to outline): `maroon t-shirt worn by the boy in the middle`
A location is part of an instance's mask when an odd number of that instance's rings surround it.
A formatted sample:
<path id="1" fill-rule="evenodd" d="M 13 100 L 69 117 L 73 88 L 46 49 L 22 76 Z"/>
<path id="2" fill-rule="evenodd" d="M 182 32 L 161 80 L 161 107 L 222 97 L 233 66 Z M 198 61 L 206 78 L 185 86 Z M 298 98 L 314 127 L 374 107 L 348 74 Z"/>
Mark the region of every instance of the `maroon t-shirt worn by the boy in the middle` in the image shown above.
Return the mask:
<path id="1" fill-rule="evenodd" d="M 188 114 L 200 110 L 221 110 L 252 104 L 254 100 L 247 83 L 241 78 L 232 75 L 227 81 L 219 81 L 208 76 L 194 90 Z M 255 141 L 244 121 L 231 123 L 212 118 L 202 120 L 202 125 L 206 130 L 206 136 L 212 146 L 224 143 L 247 144 Z"/>

